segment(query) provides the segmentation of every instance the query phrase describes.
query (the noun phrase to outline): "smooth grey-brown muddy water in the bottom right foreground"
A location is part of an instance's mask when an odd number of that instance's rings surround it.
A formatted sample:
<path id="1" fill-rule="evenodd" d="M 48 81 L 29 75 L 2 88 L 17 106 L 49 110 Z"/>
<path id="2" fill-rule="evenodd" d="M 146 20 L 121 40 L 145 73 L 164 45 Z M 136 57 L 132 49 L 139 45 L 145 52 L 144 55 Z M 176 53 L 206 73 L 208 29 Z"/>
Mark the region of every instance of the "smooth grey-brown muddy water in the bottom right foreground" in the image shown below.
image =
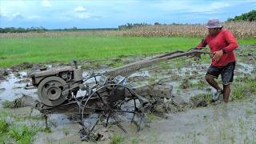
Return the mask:
<path id="1" fill-rule="evenodd" d="M 256 101 L 230 102 L 169 114 L 139 133 L 142 143 L 249 143 L 256 141 Z M 155 137 L 155 138 L 154 138 Z"/>

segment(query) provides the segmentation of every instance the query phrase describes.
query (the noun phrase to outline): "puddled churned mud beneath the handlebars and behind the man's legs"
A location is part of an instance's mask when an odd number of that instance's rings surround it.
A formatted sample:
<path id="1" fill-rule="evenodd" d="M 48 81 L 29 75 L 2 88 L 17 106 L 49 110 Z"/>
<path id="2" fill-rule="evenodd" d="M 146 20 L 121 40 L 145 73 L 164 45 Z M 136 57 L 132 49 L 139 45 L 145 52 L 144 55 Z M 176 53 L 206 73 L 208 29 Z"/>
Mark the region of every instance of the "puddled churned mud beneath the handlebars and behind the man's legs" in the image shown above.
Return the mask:
<path id="1" fill-rule="evenodd" d="M 186 102 L 189 102 L 190 98 L 194 97 L 198 94 L 212 94 L 214 93 L 214 89 L 209 85 L 204 85 L 203 87 L 188 87 L 186 89 L 181 89 L 180 85 L 183 79 L 188 79 L 191 83 L 197 83 L 199 80 L 206 83 L 204 79 L 207 68 L 210 64 L 198 64 L 186 66 L 181 69 L 171 69 L 169 70 L 140 70 L 132 75 L 130 75 L 130 79 L 135 79 L 135 84 L 145 86 L 149 84 L 148 78 L 154 78 L 154 82 L 163 82 L 173 86 L 172 94 L 174 96 L 182 97 Z M 238 76 L 249 76 L 253 74 L 253 70 L 255 67 L 251 64 L 246 64 L 243 62 L 238 62 L 237 66 L 234 70 L 234 78 Z M 177 77 L 177 78 L 175 78 Z M 132 80 L 133 80 L 132 79 Z M 220 81 L 220 78 L 218 79 Z M 152 82 L 151 82 L 152 83 Z"/>

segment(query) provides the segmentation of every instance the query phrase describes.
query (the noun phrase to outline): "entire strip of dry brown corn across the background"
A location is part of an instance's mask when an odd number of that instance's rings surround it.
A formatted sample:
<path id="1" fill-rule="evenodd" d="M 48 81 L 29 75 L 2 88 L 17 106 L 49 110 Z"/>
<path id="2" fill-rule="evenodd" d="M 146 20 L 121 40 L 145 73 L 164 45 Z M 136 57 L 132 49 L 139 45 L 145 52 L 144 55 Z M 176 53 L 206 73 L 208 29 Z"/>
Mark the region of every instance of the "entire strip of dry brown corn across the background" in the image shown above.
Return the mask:
<path id="1" fill-rule="evenodd" d="M 225 22 L 224 28 L 230 30 L 235 38 L 256 38 L 256 22 Z M 0 38 L 58 38 L 63 36 L 139 36 L 139 37 L 205 37 L 208 30 L 204 25 L 158 25 L 139 26 L 130 30 L 86 30 L 86 31 L 48 31 L 42 33 L 0 33 Z"/>

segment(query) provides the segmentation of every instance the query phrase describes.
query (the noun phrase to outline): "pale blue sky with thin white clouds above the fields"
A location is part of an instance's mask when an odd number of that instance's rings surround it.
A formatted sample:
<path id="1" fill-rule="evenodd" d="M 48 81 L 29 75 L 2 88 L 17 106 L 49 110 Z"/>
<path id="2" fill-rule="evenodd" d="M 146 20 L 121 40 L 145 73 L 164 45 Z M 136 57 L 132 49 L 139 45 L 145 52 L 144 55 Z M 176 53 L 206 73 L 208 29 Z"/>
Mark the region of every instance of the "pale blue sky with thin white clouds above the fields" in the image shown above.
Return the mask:
<path id="1" fill-rule="evenodd" d="M 0 27 L 114 28 L 129 23 L 224 22 L 256 0 L 0 0 Z"/>

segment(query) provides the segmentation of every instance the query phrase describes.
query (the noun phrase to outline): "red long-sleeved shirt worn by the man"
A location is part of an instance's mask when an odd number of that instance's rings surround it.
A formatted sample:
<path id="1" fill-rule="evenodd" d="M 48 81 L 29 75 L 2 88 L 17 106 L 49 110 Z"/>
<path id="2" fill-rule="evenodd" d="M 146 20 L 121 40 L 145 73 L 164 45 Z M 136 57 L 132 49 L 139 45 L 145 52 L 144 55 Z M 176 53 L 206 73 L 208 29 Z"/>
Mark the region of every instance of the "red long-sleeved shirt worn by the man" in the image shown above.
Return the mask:
<path id="1" fill-rule="evenodd" d="M 212 59 L 211 64 L 213 66 L 226 66 L 228 63 L 235 61 L 234 50 L 238 47 L 238 42 L 229 30 L 222 29 L 215 36 L 208 34 L 197 47 L 205 47 L 206 45 L 210 47 L 211 52 L 218 50 L 224 51 L 224 54 L 218 62 L 216 62 L 214 58 Z"/>

